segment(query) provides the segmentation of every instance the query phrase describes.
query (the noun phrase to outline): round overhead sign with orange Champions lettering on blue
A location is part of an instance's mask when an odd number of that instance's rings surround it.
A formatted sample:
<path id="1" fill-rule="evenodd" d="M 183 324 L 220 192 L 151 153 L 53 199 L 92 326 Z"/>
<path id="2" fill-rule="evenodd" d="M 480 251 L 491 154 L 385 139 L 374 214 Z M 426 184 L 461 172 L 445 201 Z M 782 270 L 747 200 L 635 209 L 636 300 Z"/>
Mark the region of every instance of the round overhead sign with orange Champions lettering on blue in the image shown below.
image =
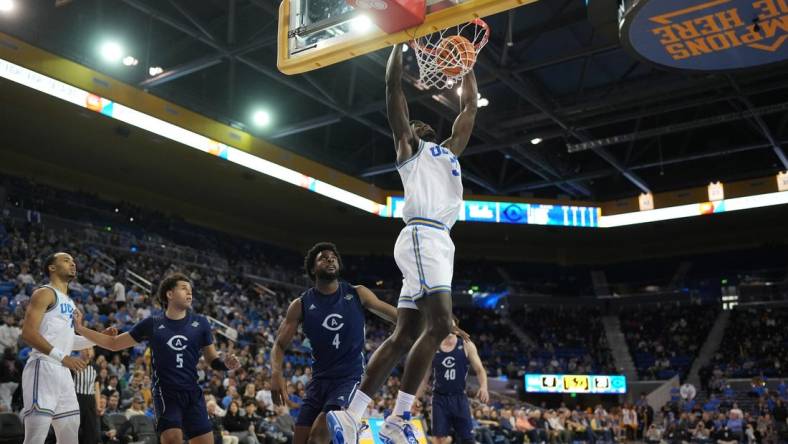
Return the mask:
<path id="1" fill-rule="evenodd" d="M 724 71 L 788 59 L 785 0 L 627 0 L 621 41 L 657 65 Z"/>

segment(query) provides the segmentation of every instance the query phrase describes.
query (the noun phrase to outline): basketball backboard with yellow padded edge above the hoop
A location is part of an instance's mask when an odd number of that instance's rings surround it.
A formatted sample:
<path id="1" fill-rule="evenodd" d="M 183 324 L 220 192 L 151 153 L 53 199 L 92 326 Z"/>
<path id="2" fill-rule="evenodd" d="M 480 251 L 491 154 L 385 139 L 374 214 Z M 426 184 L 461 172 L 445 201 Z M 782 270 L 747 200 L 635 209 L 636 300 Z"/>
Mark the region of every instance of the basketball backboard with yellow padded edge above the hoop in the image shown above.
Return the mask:
<path id="1" fill-rule="evenodd" d="M 427 0 L 424 23 L 387 34 L 346 0 L 282 0 L 277 66 L 285 74 L 312 71 L 536 1 Z"/>

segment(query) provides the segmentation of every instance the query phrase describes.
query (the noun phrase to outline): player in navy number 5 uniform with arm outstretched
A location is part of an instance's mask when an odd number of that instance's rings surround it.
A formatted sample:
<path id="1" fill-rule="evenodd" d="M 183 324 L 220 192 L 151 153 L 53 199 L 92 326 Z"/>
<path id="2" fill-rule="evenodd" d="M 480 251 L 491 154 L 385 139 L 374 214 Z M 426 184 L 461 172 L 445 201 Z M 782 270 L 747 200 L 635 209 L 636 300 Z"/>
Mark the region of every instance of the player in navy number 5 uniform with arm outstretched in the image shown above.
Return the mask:
<path id="1" fill-rule="evenodd" d="M 159 285 L 164 316 L 151 316 L 119 336 L 108 336 L 81 325 L 74 316 L 77 332 L 107 350 L 118 351 L 148 341 L 152 351 L 153 407 L 156 431 L 162 444 L 212 444 L 213 428 L 200 386 L 197 362 L 200 354 L 217 371 L 240 366 L 235 356 L 222 360 L 213 344 L 208 320 L 191 312 L 192 284 L 183 274 L 165 277 Z"/>

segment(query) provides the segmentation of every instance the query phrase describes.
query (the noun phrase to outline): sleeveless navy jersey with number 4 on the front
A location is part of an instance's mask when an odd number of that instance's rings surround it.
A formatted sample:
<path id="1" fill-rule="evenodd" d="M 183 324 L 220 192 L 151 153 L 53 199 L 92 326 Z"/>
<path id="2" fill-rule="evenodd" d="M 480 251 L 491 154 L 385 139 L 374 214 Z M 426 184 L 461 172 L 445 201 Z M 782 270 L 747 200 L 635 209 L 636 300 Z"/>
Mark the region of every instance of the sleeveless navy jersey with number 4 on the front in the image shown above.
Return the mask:
<path id="1" fill-rule="evenodd" d="M 315 379 L 359 378 L 364 373 L 364 306 L 356 289 L 340 282 L 334 294 L 310 288 L 301 295 L 303 329 L 312 344 Z"/>

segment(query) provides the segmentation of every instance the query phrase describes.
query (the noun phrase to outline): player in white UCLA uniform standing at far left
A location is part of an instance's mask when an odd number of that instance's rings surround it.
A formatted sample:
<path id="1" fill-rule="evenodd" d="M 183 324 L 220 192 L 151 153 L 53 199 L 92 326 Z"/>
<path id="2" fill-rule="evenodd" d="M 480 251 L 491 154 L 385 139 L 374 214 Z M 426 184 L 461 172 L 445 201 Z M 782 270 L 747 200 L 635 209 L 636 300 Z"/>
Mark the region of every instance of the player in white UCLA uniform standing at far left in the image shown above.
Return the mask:
<path id="1" fill-rule="evenodd" d="M 77 310 L 68 297 L 68 283 L 77 277 L 74 258 L 62 252 L 48 256 L 44 274 L 49 284 L 33 292 L 22 325 L 22 339 L 33 347 L 22 370 L 25 444 L 43 444 L 50 425 L 58 443 L 77 444 L 79 403 L 69 370 L 87 364 L 70 355 L 93 343 L 74 334 Z"/>

